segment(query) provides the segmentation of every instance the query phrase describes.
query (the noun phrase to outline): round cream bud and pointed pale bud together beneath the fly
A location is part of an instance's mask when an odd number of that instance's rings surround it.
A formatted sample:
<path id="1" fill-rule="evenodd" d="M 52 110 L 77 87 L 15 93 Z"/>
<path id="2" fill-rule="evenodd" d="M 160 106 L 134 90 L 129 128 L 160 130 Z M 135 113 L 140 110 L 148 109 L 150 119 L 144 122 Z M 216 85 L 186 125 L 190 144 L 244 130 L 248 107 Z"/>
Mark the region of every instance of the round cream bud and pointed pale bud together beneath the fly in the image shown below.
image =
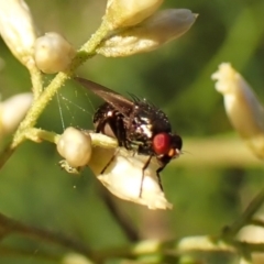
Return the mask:
<path id="1" fill-rule="evenodd" d="M 103 145 L 103 139 L 105 147 L 92 144 L 100 141 Z M 108 190 L 121 199 L 150 209 L 172 208 L 158 184 L 156 160 L 152 158 L 143 175 L 142 168 L 148 156 L 134 154 L 124 147 L 107 147 L 108 142 L 109 138 L 102 134 L 67 128 L 57 141 L 57 151 L 65 158 L 61 165 L 69 173 L 78 173 L 89 166 Z"/>

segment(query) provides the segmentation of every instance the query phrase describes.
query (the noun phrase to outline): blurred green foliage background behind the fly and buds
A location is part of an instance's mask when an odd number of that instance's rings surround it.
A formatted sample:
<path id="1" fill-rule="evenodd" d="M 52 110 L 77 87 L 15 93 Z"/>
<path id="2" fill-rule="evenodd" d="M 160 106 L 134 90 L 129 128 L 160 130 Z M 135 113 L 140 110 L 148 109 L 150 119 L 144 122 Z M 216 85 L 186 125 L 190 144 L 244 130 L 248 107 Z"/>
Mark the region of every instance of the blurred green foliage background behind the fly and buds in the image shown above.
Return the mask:
<path id="1" fill-rule="evenodd" d="M 26 2 L 40 32 L 59 32 L 76 48 L 99 26 L 106 6 L 102 0 Z M 218 140 L 239 136 L 226 117 L 222 97 L 215 90 L 210 76 L 220 63 L 230 62 L 263 100 L 264 2 L 166 0 L 162 8 L 187 8 L 199 16 L 187 34 L 157 51 L 124 58 L 96 56 L 78 74 L 123 95 L 129 91 L 150 99 L 167 113 L 174 130 L 183 136 L 185 154 L 162 173 L 166 196 L 174 204 L 172 211 L 150 211 L 113 198 L 140 237 L 216 234 L 240 216 L 264 184 L 264 177 L 262 164 L 255 163 L 253 156 L 252 163 L 232 164 L 228 157 L 227 165 L 218 162 L 215 145 Z M 29 91 L 28 72 L 1 40 L 0 59 L 2 99 Z M 73 81 L 66 84 L 58 98 L 66 127 L 92 129 L 91 117 L 100 99 Z M 56 98 L 37 127 L 62 133 Z M 197 141 L 201 144 L 194 153 L 188 142 Z M 210 143 L 205 150 L 204 141 Z M 227 156 L 234 147 L 230 142 Z M 216 158 L 208 164 L 204 156 Z M 188 162 L 180 162 L 186 157 Z M 97 179 L 88 168 L 80 177 L 63 172 L 57 164 L 59 160 L 54 145 L 46 142 L 26 142 L 19 147 L 0 173 L 0 212 L 28 224 L 66 233 L 91 249 L 125 245 L 129 240 L 101 200 Z M 61 252 L 61 248 L 16 237 L 4 239 L 2 244 L 31 250 L 31 257 L 19 261 L 22 264 L 50 263 L 38 261 L 34 254 Z M 18 263 L 18 258 L 1 254 L 0 260 Z"/>

